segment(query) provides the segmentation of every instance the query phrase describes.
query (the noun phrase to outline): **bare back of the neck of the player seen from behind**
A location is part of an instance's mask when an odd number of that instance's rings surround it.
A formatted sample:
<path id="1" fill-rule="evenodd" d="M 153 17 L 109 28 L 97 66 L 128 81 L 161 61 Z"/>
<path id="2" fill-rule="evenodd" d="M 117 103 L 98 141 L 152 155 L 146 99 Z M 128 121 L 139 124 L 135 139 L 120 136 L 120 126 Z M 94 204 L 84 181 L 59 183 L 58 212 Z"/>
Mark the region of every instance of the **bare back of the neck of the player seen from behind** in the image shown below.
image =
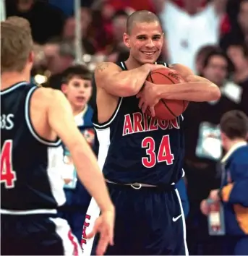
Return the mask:
<path id="1" fill-rule="evenodd" d="M 30 74 L 26 74 L 26 72 L 4 72 L 1 74 L 1 90 L 22 81 L 30 82 Z"/>

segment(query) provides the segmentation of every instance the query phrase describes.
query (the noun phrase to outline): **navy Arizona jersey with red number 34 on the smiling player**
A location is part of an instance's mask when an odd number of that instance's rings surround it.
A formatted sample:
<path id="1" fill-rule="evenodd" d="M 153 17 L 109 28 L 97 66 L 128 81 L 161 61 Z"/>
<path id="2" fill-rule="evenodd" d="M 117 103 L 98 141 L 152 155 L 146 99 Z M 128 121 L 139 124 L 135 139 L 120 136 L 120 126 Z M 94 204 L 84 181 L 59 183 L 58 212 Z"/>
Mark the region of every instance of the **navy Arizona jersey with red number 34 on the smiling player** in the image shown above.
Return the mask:
<path id="1" fill-rule="evenodd" d="M 124 62 L 119 66 L 127 69 Z M 103 124 L 98 123 L 95 107 L 95 142 L 99 143 L 95 148 L 103 174 L 111 182 L 122 184 L 176 183 L 184 158 L 183 117 L 171 121 L 151 118 L 142 114 L 138 103 L 135 96 L 119 98 L 114 114 Z"/>

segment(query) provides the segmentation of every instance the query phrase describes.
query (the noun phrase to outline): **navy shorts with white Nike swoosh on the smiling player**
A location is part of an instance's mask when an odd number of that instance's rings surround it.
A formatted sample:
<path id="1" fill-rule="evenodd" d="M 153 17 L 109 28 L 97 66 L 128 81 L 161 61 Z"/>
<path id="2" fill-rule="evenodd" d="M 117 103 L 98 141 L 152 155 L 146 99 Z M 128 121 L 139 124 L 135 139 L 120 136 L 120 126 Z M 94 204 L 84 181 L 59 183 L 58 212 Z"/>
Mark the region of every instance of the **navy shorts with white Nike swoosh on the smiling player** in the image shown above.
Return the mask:
<path id="1" fill-rule="evenodd" d="M 172 186 L 171 186 L 172 187 Z M 108 183 L 116 207 L 114 246 L 106 255 L 188 255 L 186 228 L 177 189 Z M 92 255 L 99 236 L 95 236 Z"/>

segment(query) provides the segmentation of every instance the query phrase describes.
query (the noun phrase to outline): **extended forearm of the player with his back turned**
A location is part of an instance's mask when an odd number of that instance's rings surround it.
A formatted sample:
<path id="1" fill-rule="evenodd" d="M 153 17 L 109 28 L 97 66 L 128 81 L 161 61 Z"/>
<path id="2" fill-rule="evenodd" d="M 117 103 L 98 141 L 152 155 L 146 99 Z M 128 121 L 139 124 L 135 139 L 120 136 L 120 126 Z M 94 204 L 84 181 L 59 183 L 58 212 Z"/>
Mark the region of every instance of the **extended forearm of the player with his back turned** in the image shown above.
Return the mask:
<path id="1" fill-rule="evenodd" d="M 95 155 L 88 145 L 75 147 L 71 151 L 77 175 L 82 184 L 95 198 L 102 211 L 113 210 L 114 206 L 108 195 L 108 189 L 103 174 L 98 167 Z"/>

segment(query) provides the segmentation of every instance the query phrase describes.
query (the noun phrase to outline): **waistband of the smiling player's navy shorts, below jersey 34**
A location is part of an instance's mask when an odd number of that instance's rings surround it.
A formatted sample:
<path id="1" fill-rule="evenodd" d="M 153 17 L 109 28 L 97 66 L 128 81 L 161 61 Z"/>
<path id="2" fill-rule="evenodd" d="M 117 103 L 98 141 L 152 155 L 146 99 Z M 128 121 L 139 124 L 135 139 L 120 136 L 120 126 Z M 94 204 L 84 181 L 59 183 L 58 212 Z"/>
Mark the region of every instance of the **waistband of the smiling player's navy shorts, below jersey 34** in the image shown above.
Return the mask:
<path id="1" fill-rule="evenodd" d="M 174 184 L 165 184 L 165 185 L 160 185 L 160 186 L 156 186 L 156 185 L 151 185 L 151 184 L 143 184 L 143 183 L 138 183 L 138 182 L 134 182 L 134 183 L 126 183 L 126 184 L 120 184 L 120 183 L 116 183 L 116 182 L 111 182 L 108 179 L 106 179 L 106 182 L 108 184 L 113 184 L 113 185 L 117 185 L 117 186 L 123 186 L 123 187 L 127 187 L 127 188 L 132 188 L 132 189 L 155 189 L 155 190 L 163 190 L 163 191 L 171 191 L 175 189 L 175 185 Z"/>

